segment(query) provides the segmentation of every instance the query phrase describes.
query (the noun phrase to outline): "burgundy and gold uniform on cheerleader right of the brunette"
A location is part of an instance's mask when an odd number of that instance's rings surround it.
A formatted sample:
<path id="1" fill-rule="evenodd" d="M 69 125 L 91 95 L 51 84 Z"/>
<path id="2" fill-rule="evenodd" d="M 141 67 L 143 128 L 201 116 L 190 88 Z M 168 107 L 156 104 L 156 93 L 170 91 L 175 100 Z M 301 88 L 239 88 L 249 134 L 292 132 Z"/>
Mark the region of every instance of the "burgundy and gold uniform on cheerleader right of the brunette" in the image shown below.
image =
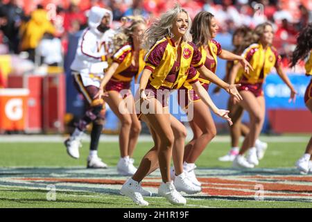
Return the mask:
<path id="1" fill-rule="evenodd" d="M 239 91 L 248 90 L 254 96 L 263 96 L 262 85 L 266 75 L 272 67 L 278 68 L 281 63 L 281 56 L 273 46 L 263 49 L 262 44 L 250 45 L 242 55 L 247 60 L 254 71 L 250 70 L 249 74 L 245 73 L 241 67 L 236 76 L 236 83 L 240 83 Z"/>

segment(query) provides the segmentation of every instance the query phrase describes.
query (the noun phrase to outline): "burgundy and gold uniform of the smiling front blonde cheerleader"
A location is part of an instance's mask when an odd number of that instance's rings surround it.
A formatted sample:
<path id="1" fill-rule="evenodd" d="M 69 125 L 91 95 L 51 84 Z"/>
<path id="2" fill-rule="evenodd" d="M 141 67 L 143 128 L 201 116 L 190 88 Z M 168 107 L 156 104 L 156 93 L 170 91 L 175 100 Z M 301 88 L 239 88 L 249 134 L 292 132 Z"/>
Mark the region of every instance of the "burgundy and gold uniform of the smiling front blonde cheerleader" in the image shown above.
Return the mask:
<path id="1" fill-rule="evenodd" d="M 169 37 L 164 37 L 146 54 L 145 68 L 152 71 L 146 94 L 150 93 L 163 107 L 168 105 L 172 89 L 180 89 L 184 83 L 191 85 L 198 81 L 196 69 L 203 65 L 202 55 L 195 44 L 182 42 L 181 49 L 181 59 L 177 62 L 177 47 Z"/>

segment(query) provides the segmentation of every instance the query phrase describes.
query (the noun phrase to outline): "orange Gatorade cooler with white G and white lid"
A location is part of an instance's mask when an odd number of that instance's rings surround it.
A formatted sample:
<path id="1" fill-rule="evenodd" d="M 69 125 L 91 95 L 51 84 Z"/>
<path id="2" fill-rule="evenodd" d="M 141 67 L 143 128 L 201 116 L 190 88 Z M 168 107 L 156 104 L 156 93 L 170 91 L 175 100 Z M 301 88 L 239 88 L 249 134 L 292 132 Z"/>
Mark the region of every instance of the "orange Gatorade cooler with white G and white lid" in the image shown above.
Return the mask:
<path id="1" fill-rule="evenodd" d="M 0 132 L 25 130 L 28 89 L 0 89 Z"/>

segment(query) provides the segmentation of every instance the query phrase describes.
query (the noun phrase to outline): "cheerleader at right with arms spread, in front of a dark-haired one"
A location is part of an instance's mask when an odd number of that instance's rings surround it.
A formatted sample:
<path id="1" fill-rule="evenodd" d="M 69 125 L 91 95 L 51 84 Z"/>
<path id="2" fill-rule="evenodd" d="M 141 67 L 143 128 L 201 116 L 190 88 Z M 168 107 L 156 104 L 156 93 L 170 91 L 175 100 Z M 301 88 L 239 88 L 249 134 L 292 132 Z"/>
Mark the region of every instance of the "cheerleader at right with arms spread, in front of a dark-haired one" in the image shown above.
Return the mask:
<path id="1" fill-rule="evenodd" d="M 243 100 L 239 104 L 247 110 L 250 116 L 250 130 L 243 141 L 239 155 L 233 161 L 233 167 L 253 168 L 259 164 L 255 142 L 261 133 L 265 115 L 265 100 L 262 85 L 272 67 L 275 67 L 277 74 L 289 89 L 291 89 L 289 101 L 295 101 L 297 92 L 281 69 L 281 57 L 272 46 L 273 37 L 274 32 L 270 23 L 266 22 L 257 26 L 254 29 L 253 44 L 250 44 L 243 52 L 243 57 L 250 62 L 254 70 L 248 74 L 237 64 L 234 65 L 229 74 L 229 83 L 234 83 L 237 77 L 237 83 L 241 84 L 239 92 Z M 246 159 L 244 154 L 247 151 L 249 153 Z"/>

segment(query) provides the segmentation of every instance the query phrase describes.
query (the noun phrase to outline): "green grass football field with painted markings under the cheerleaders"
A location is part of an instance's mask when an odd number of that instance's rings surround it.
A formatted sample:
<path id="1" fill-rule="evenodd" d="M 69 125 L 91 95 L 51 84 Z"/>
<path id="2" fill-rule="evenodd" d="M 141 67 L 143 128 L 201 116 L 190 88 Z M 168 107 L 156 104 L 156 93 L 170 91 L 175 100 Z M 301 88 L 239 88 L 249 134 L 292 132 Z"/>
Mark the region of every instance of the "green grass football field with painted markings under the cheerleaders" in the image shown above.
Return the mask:
<path id="1" fill-rule="evenodd" d="M 202 153 L 196 163 L 202 180 L 208 178 L 207 194 L 209 194 L 209 181 L 229 178 L 232 176 L 300 176 L 295 170 L 295 161 L 304 152 L 309 137 L 304 137 L 302 142 L 269 142 L 266 156 L 261 160 L 256 169 L 250 171 L 231 171 L 231 163 L 219 162 L 218 157 L 225 155 L 229 149 L 227 142 L 213 142 Z M 137 166 L 141 157 L 153 144 L 140 142 L 135 151 L 134 158 Z M 110 166 L 110 171 L 86 170 L 86 159 L 89 144 L 84 143 L 80 149 L 80 159 L 73 160 L 66 153 L 60 142 L 0 142 L 0 207 L 138 207 L 132 200 L 119 195 L 120 184 L 113 186 L 102 182 L 69 182 L 69 181 L 42 181 L 21 178 L 88 178 L 88 180 L 116 180 L 123 181 L 126 177 L 116 176 L 114 167 L 119 160 L 119 145 L 116 142 L 101 143 L 99 156 Z M 271 169 L 274 169 L 272 175 Z M 223 175 L 218 175 L 218 171 Z M 232 175 L 228 175 L 230 171 Z M 107 173 L 109 172 L 109 173 Z M 197 172 L 197 171 L 196 171 Z M 155 176 L 159 178 L 159 173 Z M 17 178 L 17 179 L 16 179 Z M 303 178 L 303 177 L 302 177 Z M 307 178 L 307 179 L 306 179 Z M 187 196 L 185 207 L 312 207 L 311 175 L 304 176 L 302 181 L 289 184 L 293 189 L 288 190 L 272 188 L 270 192 L 292 192 L 289 198 L 265 198 L 254 200 L 252 196 L 218 194 Z M 68 179 L 69 180 L 69 179 Z M 284 180 L 284 179 L 283 179 Z M 22 182 L 21 182 L 22 181 Z M 35 181 L 35 182 L 34 182 Z M 159 180 L 160 181 L 160 180 Z M 274 180 L 268 179 L 270 186 Z M 283 183 L 283 182 L 281 182 Z M 122 184 L 122 182 L 121 182 Z M 55 185 L 56 200 L 47 200 L 49 190 L 46 185 Z M 217 184 L 216 184 L 217 185 Z M 296 186 L 304 185 L 304 190 Z M 106 187 L 107 186 L 107 187 Z M 311 189 L 310 189 L 311 187 Z M 155 187 L 154 190 L 155 191 Z M 214 188 L 216 192 L 218 188 Z M 156 189 L 157 191 L 157 189 Z M 156 193 L 155 191 L 155 193 Z M 301 194 L 307 197 L 299 198 Z M 245 195 L 245 194 L 244 194 Z M 283 194 L 284 195 L 284 194 Z M 311 195 L 311 197 L 309 197 Z M 275 196 L 275 194 L 272 194 Z M 146 198 L 148 207 L 175 207 L 164 198 L 155 196 Z"/>

